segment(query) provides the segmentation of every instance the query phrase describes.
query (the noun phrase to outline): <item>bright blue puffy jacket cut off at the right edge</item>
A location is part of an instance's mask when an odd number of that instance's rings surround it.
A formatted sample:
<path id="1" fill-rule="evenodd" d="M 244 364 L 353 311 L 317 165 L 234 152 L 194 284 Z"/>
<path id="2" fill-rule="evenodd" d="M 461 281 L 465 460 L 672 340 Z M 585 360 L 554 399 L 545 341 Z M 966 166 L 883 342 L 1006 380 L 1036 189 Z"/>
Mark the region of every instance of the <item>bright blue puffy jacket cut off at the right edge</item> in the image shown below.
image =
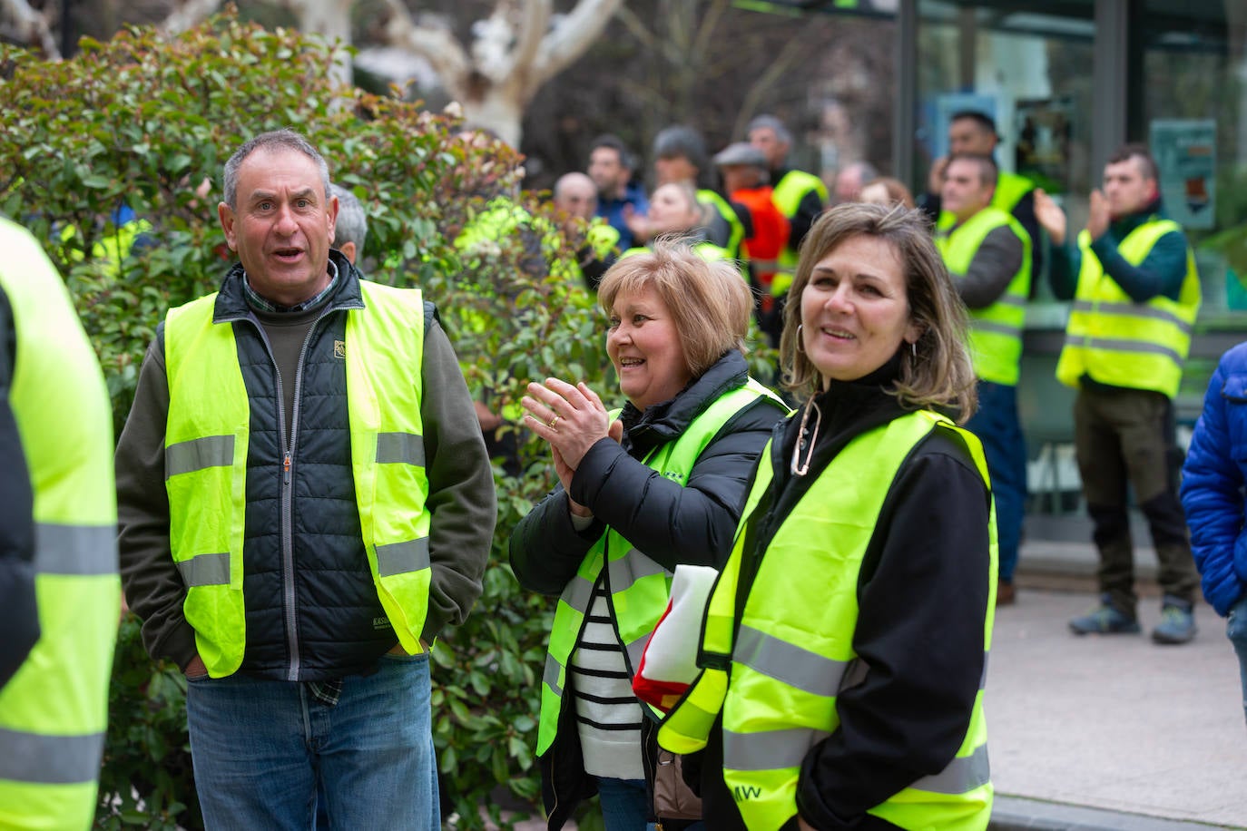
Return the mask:
<path id="1" fill-rule="evenodd" d="M 1247 592 L 1247 344 L 1227 351 L 1203 396 L 1182 467 L 1182 507 L 1203 597 L 1217 614 Z"/>

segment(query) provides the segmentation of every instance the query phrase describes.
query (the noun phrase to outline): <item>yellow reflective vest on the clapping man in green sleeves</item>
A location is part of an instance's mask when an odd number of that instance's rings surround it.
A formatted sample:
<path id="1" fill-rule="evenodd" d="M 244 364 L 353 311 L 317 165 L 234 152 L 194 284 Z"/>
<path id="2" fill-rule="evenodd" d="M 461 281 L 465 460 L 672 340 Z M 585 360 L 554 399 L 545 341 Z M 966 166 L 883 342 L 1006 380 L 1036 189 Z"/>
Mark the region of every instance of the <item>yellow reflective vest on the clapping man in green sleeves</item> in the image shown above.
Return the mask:
<path id="1" fill-rule="evenodd" d="M 1156 242 L 1181 232 L 1172 219 L 1152 218 L 1131 230 L 1117 250 L 1131 265 L 1142 263 Z M 1182 381 L 1182 364 L 1191 351 L 1191 329 L 1200 311 L 1200 275 L 1187 247 L 1186 277 L 1177 300 L 1155 297 L 1135 303 L 1104 273 L 1091 250 L 1091 237 L 1079 234 L 1082 264 L 1065 326 L 1065 346 L 1056 378 L 1079 386 L 1084 375 L 1100 384 L 1152 390 L 1172 399 Z"/>

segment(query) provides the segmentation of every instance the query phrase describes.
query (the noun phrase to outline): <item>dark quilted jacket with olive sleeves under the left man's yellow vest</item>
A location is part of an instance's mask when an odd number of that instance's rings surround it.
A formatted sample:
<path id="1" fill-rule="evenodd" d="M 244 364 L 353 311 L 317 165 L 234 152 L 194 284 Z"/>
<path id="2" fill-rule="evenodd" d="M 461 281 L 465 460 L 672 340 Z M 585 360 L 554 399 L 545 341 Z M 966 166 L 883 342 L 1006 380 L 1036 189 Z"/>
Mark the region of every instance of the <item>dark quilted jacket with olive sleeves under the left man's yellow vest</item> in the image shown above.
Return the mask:
<path id="1" fill-rule="evenodd" d="M 213 306 L 232 321 L 248 392 L 251 437 L 243 543 L 246 654 L 241 672 L 286 680 L 320 681 L 370 672 L 395 643 L 377 596 L 360 531 L 350 468 L 345 363 L 347 315 L 364 308 L 362 275 L 330 252 L 338 287 L 324 306 L 303 315 L 312 325 L 298 353 L 301 373 L 284 373 L 273 353 L 278 315 L 251 309 L 242 269 L 231 269 Z M 311 324 L 313 315 L 320 315 Z M 289 338 L 287 338 L 289 340 Z M 282 350 L 278 350 L 281 353 Z M 495 510 L 494 480 L 471 399 L 431 304 L 424 309 L 420 366 L 425 501 L 431 584 L 421 637 L 459 623 L 481 591 Z M 291 390 L 292 404 L 283 406 Z M 294 392 L 297 391 L 297 396 Z M 121 577 L 131 609 L 143 618 L 143 643 L 153 658 L 185 668 L 196 655 L 195 630 L 183 613 L 186 587 L 170 553 L 165 487 L 165 436 L 170 387 L 163 324 L 147 350 L 135 405 L 117 445 Z M 289 411 L 287 411 L 289 407 Z M 297 419 L 298 430 L 289 429 Z M 283 510 L 283 451 L 289 437 L 293 496 Z M 283 516 L 284 515 L 284 516 Z M 283 527 L 283 523 L 284 527 Z M 283 571 L 284 569 L 284 571 Z M 291 622 L 293 620 L 293 625 Z"/>

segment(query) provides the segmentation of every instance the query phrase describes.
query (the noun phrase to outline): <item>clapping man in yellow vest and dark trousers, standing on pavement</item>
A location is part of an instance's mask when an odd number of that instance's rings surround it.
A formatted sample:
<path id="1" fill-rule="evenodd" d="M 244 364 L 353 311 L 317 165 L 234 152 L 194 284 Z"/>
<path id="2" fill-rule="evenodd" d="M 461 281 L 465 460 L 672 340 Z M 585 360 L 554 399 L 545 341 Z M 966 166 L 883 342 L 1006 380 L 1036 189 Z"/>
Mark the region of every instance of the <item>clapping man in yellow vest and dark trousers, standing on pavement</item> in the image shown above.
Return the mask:
<path id="1" fill-rule="evenodd" d="M 1140 630 L 1132 492 L 1161 563 L 1161 623 L 1152 640 L 1190 643 L 1200 577 L 1178 500 L 1173 399 L 1201 302 L 1195 255 L 1165 216 L 1156 161 L 1142 145 L 1109 158 L 1081 233 L 1069 233 L 1065 213 L 1042 191 L 1035 208 L 1052 239 L 1052 293 L 1074 300 L 1056 378 L 1077 390 L 1074 444 L 1100 556 L 1100 603 L 1072 618 L 1070 629 Z"/>

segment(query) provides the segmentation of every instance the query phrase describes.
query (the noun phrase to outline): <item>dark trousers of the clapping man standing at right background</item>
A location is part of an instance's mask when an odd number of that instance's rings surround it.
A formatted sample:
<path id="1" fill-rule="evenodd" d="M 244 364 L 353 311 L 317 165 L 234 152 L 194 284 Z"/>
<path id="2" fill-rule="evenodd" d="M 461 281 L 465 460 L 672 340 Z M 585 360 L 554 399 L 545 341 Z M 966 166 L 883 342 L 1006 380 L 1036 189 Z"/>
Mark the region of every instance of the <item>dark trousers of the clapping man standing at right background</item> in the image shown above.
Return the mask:
<path id="1" fill-rule="evenodd" d="M 1139 597 L 1126 512 L 1129 485 L 1147 518 L 1161 589 L 1192 602 L 1200 578 L 1177 496 L 1180 453 L 1170 399 L 1150 390 L 1084 385 L 1074 402 L 1074 441 L 1100 552 L 1100 591 L 1112 605 L 1134 614 Z"/>

